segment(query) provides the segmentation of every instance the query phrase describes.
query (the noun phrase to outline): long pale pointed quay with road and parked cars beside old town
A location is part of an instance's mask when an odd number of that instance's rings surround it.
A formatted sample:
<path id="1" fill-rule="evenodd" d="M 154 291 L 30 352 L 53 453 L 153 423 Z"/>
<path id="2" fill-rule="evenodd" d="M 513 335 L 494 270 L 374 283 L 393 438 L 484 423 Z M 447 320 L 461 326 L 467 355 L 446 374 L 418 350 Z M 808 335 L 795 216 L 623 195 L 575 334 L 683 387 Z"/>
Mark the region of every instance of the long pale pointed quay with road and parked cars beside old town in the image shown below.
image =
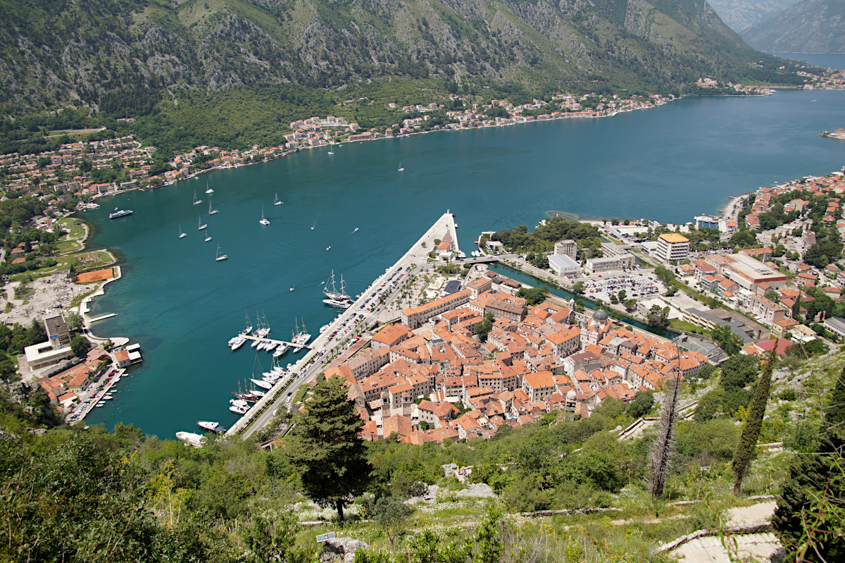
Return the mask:
<path id="1" fill-rule="evenodd" d="M 435 239 L 439 239 L 440 242 L 435 244 Z M 256 402 L 242 418 L 232 425 L 226 435 L 241 435 L 243 439 L 247 439 L 254 432 L 264 428 L 279 407 L 286 402 L 290 404 L 299 388 L 313 381 L 325 369 L 326 364 L 330 363 L 332 353 L 341 353 L 342 349 L 354 344 L 350 336 L 353 327 L 379 323 L 379 315 L 390 309 L 396 295 L 410 279 L 407 274 L 421 266 L 431 264 L 428 262 L 430 260 L 428 253 L 433 250 L 437 254 L 438 247 L 443 247 L 439 249 L 443 255 L 460 252 L 455 230 L 455 216 L 449 210 L 440 216 L 394 265 L 387 268 L 384 274 L 361 292 L 360 297 L 349 309 L 339 314 L 313 340 L 308 353 L 292 365 L 290 375 L 267 391 L 259 402 Z M 395 276 L 404 277 L 395 279 Z"/>

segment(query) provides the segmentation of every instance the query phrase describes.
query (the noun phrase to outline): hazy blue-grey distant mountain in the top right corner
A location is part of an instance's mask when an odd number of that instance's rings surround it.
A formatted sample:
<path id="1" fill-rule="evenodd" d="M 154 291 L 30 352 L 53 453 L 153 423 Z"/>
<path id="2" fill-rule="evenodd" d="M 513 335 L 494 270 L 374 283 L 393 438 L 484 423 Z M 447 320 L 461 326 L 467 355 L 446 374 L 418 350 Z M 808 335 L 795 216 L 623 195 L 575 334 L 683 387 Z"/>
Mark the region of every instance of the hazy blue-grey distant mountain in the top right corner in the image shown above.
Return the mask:
<path id="1" fill-rule="evenodd" d="M 770 52 L 845 52 L 845 0 L 803 0 L 743 31 Z"/>

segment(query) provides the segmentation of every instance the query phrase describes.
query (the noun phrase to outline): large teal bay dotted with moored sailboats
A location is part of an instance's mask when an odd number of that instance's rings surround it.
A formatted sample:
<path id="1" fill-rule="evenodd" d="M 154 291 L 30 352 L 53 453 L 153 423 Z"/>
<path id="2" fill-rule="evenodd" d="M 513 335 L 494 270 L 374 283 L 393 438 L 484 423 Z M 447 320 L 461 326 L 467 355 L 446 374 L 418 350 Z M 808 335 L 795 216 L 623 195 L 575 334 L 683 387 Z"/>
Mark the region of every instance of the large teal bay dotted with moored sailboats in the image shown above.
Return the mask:
<path id="1" fill-rule="evenodd" d="M 842 91 L 691 99 L 606 119 L 343 145 L 334 156 L 303 150 L 101 200 L 83 216 L 93 244 L 122 255 L 123 279 L 92 303 L 92 314 L 118 313 L 94 331 L 140 342 L 144 364 L 89 420 L 167 438 L 197 419 L 232 424 L 228 399 L 255 357 L 226 347 L 244 310 L 264 311 L 274 336 L 289 336 L 295 317 L 316 334 L 334 316 L 319 292 L 331 269 L 360 292 L 447 209 L 467 252 L 482 230 L 533 227 L 547 210 L 692 221 L 730 195 L 838 170 L 845 143 L 818 133 L 841 127 L 843 108 Z M 206 180 L 215 216 L 205 213 Z M 192 205 L 194 189 L 202 205 Z M 284 205 L 272 205 L 275 192 Z M 258 222 L 262 205 L 269 227 Z M 114 207 L 135 212 L 109 221 Z M 177 238 L 180 224 L 188 237 Z M 228 260 L 215 262 L 217 243 Z M 267 369 L 270 355 L 259 358 Z"/>

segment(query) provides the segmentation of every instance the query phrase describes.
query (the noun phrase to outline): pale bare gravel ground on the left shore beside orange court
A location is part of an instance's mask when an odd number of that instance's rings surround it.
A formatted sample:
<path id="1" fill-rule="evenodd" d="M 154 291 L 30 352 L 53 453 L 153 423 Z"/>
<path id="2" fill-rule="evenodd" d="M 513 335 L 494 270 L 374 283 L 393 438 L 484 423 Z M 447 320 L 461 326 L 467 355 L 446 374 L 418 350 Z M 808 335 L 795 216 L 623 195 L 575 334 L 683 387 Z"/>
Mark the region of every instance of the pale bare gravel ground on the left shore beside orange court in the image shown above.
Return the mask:
<path id="1" fill-rule="evenodd" d="M 14 298 L 14 287 L 17 285 L 17 282 L 12 282 L 3 287 L 5 291 L 0 298 L 0 310 L 5 309 L 6 303 L 12 303 L 11 311 L 0 314 L 0 322 L 7 325 L 30 325 L 33 319 L 41 320 L 53 314 L 67 313 L 68 305 L 74 297 L 96 287 L 96 284 L 77 285 L 68 280 L 66 272 L 40 277 L 27 284 L 32 292 L 26 297 L 28 303 L 24 305 L 22 300 Z"/>

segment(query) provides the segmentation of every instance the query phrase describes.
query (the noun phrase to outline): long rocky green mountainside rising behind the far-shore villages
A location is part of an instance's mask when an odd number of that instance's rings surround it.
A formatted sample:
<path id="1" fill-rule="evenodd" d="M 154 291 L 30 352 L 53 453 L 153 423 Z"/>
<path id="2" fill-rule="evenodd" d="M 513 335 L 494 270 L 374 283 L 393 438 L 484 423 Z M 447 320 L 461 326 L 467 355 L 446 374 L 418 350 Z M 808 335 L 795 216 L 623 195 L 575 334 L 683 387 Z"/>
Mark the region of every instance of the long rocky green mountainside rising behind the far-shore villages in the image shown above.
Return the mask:
<path id="1" fill-rule="evenodd" d="M 13 115 L 139 115 L 178 90 L 394 78 L 651 91 L 794 79 L 704 0 L 0 0 L 0 14 L 0 111 Z"/>

